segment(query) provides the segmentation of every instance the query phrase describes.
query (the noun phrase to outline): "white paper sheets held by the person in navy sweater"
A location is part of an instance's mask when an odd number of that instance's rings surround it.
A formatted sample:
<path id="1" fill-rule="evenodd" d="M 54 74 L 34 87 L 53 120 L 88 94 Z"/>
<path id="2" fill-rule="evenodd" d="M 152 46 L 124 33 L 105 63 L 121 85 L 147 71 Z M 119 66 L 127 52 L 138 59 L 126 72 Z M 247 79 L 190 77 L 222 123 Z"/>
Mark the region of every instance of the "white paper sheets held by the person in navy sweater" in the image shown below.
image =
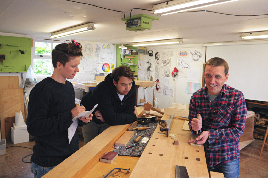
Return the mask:
<path id="1" fill-rule="evenodd" d="M 96 104 L 94 106 L 93 109 L 91 109 L 90 111 L 84 111 L 84 112 L 80 112 L 77 116 L 75 116 L 73 118 L 73 123 L 72 125 L 67 129 L 68 130 L 68 139 L 69 139 L 69 144 L 73 138 L 73 135 L 75 135 L 75 131 L 76 131 L 76 128 L 78 126 L 78 118 L 87 118 L 94 110 L 95 108 L 98 106 L 98 104 Z"/>

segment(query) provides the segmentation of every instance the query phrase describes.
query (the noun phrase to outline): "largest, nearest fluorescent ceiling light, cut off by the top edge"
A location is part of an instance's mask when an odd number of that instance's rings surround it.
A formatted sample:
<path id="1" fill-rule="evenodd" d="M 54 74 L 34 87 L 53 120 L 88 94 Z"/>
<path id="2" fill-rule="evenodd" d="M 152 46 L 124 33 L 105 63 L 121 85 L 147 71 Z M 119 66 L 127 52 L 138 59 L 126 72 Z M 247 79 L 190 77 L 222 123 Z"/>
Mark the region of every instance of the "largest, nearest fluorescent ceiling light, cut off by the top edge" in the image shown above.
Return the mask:
<path id="1" fill-rule="evenodd" d="M 191 0 L 191 1 L 173 0 L 152 6 L 153 10 L 151 13 L 163 16 L 233 1 L 239 1 L 239 0 Z"/>

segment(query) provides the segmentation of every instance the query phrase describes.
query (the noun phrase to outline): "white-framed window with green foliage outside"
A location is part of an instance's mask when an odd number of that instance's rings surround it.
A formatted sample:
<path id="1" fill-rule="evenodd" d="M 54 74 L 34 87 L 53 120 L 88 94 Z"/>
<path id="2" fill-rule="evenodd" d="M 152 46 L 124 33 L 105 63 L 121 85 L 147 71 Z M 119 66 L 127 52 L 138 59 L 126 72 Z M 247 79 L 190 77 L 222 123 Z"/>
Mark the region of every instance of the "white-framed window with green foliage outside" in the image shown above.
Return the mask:
<path id="1" fill-rule="evenodd" d="M 62 40 L 33 40 L 32 68 L 36 76 L 52 75 L 54 67 L 51 61 L 51 52 Z"/>

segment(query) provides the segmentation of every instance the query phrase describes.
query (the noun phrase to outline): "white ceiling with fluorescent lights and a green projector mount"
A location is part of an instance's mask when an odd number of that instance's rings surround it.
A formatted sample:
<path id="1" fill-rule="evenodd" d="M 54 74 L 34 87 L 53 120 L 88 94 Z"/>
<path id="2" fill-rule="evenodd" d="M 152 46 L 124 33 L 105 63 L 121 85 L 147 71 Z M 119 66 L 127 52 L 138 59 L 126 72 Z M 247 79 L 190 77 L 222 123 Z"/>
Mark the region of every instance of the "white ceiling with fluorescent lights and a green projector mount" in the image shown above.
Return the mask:
<path id="1" fill-rule="evenodd" d="M 76 0 L 125 12 L 132 8 L 152 10 L 165 0 Z M 267 0 L 240 0 L 196 10 L 256 15 L 268 14 Z M 229 16 L 212 12 L 184 12 L 157 16 L 146 10 L 132 10 L 131 16 L 147 14 L 159 17 L 152 29 L 140 32 L 125 29 L 122 12 L 114 12 L 65 0 L 0 0 L 0 32 L 49 38 L 50 33 L 86 22 L 96 29 L 69 36 L 75 40 L 131 44 L 139 41 L 183 38 L 184 44 L 240 41 L 242 32 L 268 30 L 268 16 Z M 65 37 L 66 38 L 66 37 Z"/>

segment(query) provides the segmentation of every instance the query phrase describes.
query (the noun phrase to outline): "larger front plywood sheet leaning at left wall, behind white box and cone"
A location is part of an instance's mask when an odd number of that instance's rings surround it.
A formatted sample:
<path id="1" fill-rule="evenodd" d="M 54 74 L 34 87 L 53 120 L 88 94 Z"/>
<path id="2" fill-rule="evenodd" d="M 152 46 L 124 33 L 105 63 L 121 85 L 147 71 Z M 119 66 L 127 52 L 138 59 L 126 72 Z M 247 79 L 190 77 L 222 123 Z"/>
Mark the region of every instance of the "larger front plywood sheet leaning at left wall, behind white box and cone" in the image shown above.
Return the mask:
<path id="1" fill-rule="evenodd" d="M 23 89 L 0 90 L 1 139 L 6 138 L 5 118 L 13 117 L 19 111 L 24 116 Z"/>

